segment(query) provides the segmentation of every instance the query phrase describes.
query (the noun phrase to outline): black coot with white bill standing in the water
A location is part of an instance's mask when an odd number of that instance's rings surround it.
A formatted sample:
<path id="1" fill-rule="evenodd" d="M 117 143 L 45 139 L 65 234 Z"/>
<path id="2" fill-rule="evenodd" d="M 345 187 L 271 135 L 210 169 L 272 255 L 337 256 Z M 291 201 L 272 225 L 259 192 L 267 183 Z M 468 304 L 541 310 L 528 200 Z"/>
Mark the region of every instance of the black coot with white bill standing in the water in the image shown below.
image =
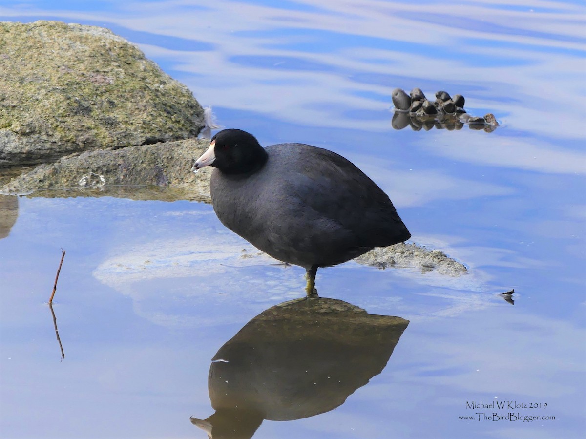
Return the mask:
<path id="1" fill-rule="evenodd" d="M 386 193 L 327 149 L 263 148 L 246 131 L 222 130 L 193 171 L 207 165 L 216 168 L 210 192 L 220 221 L 275 259 L 304 267 L 308 295 L 318 267 L 411 237 Z"/>

